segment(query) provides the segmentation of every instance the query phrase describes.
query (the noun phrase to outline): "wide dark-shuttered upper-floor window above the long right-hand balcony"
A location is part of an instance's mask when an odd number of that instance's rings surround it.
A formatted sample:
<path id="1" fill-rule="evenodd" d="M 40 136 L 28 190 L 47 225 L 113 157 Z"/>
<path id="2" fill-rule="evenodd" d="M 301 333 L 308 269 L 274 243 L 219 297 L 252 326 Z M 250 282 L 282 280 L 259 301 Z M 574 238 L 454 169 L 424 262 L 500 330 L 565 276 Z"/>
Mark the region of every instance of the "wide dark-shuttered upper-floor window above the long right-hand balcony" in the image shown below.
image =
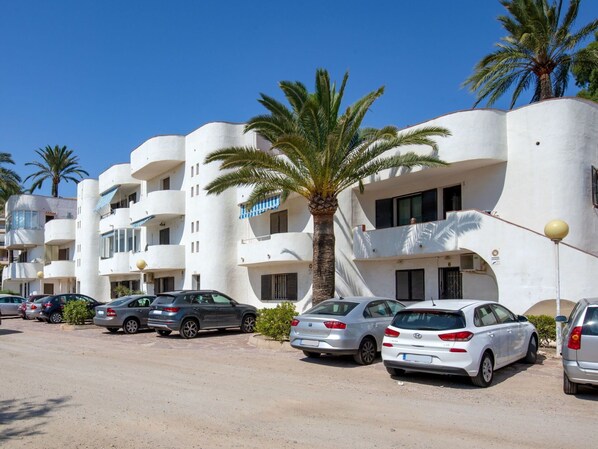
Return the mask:
<path id="1" fill-rule="evenodd" d="M 436 189 L 376 200 L 376 229 L 425 223 L 438 219 Z"/>

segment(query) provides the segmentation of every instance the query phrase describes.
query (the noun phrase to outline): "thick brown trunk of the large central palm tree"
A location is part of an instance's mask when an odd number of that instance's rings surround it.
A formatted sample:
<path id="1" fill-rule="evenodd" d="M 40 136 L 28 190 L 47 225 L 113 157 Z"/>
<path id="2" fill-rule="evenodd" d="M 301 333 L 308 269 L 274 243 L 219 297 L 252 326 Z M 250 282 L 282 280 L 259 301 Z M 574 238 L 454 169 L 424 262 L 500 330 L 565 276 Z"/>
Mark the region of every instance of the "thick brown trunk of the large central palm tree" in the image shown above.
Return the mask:
<path id="1" fill-rule="evenodd" d="M 312 303 L 315 305 L 334 297 L 336 261 L 334 257 L 334 212 L 312 214 L 312 216 L 314 217 Z"/>

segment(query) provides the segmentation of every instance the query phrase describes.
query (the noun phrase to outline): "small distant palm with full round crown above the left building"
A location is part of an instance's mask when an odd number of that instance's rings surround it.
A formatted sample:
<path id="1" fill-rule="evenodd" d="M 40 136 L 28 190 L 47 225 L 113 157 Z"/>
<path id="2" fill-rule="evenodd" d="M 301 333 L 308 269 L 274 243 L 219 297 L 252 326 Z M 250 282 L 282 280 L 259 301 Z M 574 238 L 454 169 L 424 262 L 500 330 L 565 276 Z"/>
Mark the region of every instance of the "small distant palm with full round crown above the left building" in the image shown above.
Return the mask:
<path id="1" fill-rule="evenodd" d="M 46 148 L 35 150 L 35 152 L 42 159 L 42 162 L 27 162 L 25 165 L 33 165 L 39 168 L 39 171 L 30 174 L 25 178 L 25 182 L 29 178 L 33 178 L 33 184 L 29 191 L 33 193 L 36 189 L 43 186 L 46 179 L 52 181 L 52 196 L 58 196 L 58 184 L 60 181 L 73 181 L 78 183 L 83 175 L 89 176 L 85 170 L 79 165 L 79 157 L 73 156 L 73 150 L 67 149 L 66 146 L 59 147 L 58 145 L 52 148 L 47 145 Z"/>

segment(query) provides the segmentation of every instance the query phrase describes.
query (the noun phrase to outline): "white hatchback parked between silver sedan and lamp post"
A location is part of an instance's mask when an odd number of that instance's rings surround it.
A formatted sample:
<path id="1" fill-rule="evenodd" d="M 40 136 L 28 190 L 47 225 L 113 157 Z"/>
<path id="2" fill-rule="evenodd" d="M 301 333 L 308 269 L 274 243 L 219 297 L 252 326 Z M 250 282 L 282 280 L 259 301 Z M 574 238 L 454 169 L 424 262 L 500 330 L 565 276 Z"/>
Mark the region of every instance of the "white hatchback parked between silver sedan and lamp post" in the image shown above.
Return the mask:
<path id="1" fill-rule="evenodd" d="M 494 371 L 517 360 L 535 363 L 538 333 L 527 318 L 501 304 L 440 300 L 401 310 L 384 333 L 382 360 L 404 371 L 456 374 L 488 387 Z"/>

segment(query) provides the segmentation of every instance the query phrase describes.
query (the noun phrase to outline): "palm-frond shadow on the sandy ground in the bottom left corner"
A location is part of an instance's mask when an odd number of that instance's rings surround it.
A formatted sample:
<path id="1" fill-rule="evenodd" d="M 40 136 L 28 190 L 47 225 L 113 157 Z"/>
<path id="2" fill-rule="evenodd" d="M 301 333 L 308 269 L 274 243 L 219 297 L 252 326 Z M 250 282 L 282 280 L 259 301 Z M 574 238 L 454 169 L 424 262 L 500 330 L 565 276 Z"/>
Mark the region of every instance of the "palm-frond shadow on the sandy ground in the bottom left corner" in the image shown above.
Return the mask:
<path id="1" fill-rule="evenodd" d="M 34 400 L 0 401 L 0 446 L 11 439 L 43 433 L 47 417 L 53 411 L 66 407 L 70 398 L 60 397 L 44 402 Z"/>

